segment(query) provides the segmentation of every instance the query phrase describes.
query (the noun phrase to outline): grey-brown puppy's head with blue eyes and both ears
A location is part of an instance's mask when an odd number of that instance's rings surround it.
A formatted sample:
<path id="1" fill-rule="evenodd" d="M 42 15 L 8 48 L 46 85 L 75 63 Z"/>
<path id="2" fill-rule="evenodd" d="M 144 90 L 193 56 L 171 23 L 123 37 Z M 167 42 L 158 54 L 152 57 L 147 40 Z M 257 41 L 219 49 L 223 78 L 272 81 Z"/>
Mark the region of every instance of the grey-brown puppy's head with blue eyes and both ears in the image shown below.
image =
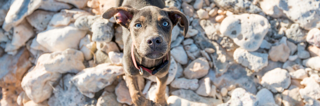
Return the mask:
<path id="1" fill-rule="evenodd" d="M 170 51 L 171 31 L 180 21 L 184 36 L 188 32 L 186 16 L 175 7 L 160 9 L 146 6 L 140 10 L 129 5 L 110 8 L 103 18 L 116 18 L 116 22 L 130 30 L 135 49 L 140 56 L 160 59 Z"/>

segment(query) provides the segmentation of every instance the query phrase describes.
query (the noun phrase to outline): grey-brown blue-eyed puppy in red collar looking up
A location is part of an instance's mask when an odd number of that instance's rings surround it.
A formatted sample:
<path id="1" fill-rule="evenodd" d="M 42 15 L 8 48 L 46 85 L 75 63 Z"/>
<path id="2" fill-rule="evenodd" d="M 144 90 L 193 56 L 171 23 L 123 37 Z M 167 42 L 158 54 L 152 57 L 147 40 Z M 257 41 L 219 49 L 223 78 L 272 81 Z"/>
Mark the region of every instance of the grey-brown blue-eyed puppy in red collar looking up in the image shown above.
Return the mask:
<path id="1" fill-rule="evenodd" d="M 126 84 L 136 106 L 166 106 L 165 88 L 170 67 L 170 44 L 173 26 L 180 23 L 183 35 L 188 32 L 188 20 L 176 7 L 165 8 L 164 0 L 123 0 L 122 6 L 102 14 L 116 18 L 123 29 Z M 155 101 L 146 99 L 138 88 L 137 77 L 156 76 Z"/>

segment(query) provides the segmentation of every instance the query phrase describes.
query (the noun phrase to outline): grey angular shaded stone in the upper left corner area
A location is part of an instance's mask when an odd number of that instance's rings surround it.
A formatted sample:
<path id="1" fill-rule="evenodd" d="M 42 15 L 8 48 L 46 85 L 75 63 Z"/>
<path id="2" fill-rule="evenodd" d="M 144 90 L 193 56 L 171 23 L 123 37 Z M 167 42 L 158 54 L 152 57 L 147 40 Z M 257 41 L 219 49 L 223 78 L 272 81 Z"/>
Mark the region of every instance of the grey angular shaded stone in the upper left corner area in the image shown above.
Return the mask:
<path id="1" fill-rule="evenodd" d="M 36 30 L 40 32 L 44 31 L 47 28 L 47 25 L 49 24 L 49 21 L 51 20 L 54 14 L 55 12 L 36 10 L 28 17 L 26 17 L 26 19 L 28 20 L 30 25 L 35 27 Z"/>

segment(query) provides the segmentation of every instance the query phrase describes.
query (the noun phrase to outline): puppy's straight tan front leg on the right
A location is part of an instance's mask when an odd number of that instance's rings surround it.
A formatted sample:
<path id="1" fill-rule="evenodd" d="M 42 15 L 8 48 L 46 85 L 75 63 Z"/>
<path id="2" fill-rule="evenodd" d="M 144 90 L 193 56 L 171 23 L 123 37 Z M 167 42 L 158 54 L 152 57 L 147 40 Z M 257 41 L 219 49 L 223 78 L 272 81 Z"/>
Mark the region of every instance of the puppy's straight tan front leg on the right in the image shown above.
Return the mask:
<path id="1" fill-rule="evenodd" d="M 167 106 L 167 101 L 165 99 L 165 88 L 168 79 L 168 74 L 162 78 L 156 77 L 157 88 L 156 88 L 156 98 L 155 102 L 161 104 L 161 106 Z"/>

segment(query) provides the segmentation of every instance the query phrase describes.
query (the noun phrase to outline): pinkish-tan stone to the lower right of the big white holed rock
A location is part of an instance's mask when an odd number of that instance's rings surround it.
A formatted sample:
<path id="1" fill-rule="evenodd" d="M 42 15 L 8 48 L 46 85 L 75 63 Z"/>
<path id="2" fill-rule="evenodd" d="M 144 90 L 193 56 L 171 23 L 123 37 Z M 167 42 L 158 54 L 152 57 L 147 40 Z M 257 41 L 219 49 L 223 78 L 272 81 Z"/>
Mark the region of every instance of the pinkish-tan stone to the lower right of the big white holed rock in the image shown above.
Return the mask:
<path id="1" fill-rule="evenodd" d="M 269 50 L 269 57 L 272 61 L 285 62 L 290 56 L 290 48 L 285 44 L 272 46 Z"/>

